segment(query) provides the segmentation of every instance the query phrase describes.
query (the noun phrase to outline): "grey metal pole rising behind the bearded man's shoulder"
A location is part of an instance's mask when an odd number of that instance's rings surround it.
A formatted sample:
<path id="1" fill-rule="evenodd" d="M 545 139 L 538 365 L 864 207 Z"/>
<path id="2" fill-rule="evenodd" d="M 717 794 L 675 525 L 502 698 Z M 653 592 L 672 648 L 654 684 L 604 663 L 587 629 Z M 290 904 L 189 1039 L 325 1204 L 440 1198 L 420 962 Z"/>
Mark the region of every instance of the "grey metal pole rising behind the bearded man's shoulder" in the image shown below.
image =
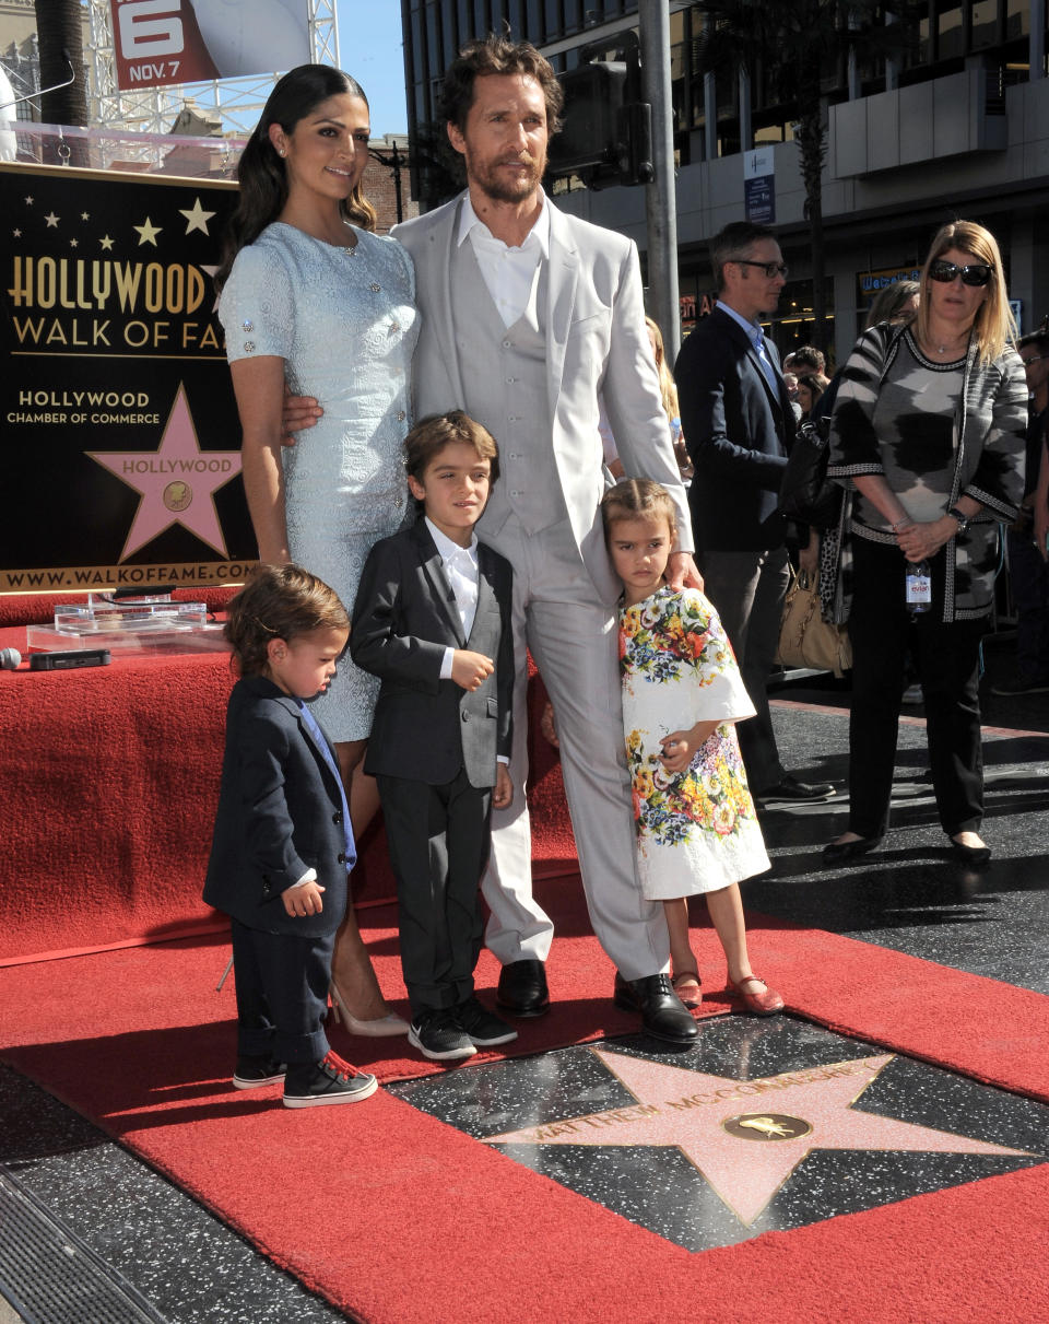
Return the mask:
<path id="1" fill-rule="evenodd" d="M 669 0 L 640 0 L 642 95 L 652 106 L 652 166 L 646 184 L 648 220 L 648 289 L 652 316 L 663 331 L 667 363 L 681 348 L 677 294 L 677 189 L 673 175 L 673 101 L 671 98 Z"/>

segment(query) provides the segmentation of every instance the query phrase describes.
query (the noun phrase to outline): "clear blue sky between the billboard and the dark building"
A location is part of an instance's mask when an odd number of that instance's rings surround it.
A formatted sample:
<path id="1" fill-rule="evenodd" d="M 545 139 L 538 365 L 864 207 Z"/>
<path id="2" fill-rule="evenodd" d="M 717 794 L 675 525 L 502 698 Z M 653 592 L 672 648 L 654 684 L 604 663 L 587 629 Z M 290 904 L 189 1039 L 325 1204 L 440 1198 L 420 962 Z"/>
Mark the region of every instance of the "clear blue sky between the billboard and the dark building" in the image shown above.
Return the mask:
<path id="1" fill-rule="evenodd" d="M 372 134 L 407 132 L 398 0 L 336 0 L 339 60 L 368 95 Z"/>

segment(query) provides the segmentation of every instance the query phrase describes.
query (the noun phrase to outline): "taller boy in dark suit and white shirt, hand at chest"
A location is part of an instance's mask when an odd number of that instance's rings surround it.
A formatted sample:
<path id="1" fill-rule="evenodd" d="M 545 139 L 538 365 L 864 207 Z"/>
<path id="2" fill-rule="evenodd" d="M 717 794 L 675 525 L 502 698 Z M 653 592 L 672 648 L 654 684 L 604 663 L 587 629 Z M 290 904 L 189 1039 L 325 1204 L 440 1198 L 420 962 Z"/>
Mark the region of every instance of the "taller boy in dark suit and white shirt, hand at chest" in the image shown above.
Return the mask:
<path id="1" fill-rule="evenodd" d="M 491 810 L 513 798 L 512 571 L 474 532 L 499 474 L 491 434 L 455 410 L 417 424 L 405 454 L 423 516 L 372 548 L 351 653 L 382 679 L 364 771 L 397 875 L 409 1041 L 447 1061 L 517 1037 L 474 996 Z"/>

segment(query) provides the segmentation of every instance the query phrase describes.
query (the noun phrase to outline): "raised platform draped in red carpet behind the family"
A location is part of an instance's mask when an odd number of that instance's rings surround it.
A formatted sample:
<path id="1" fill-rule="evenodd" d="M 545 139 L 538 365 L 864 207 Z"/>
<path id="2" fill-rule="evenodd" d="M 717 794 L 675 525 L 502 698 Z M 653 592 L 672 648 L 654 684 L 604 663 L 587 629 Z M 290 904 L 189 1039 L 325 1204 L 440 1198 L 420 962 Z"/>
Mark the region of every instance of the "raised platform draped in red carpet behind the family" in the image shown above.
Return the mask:
<path id="1" fill-rule="evenodd" d="M 4 647 L 25 653 L 24 626 L 0 630 Z M 0 964 L 225 927 L 200 891 L 233 681 L 225 653 L 0 671 Z M 574 869 L 561 767 L 537 733 L 533 765 L 536 869 Z M 394 891 L 373 829 L 355 899 Z"/>

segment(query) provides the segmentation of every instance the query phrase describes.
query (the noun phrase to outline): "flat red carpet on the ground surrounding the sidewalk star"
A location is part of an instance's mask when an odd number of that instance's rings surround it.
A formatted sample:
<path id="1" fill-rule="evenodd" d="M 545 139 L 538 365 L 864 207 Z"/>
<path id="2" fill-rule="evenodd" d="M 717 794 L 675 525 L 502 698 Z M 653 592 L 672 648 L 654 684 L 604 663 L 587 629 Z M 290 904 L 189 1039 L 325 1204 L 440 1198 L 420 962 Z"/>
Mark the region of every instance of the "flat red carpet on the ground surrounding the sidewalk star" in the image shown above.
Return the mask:
<path id="1" fill-rule="evenodd" d="M 583 936 L 578 882 L 548 882 L 544 899 L 562 935 L 557 1005 L 513 1047 L 634 1029 Z M 396 994 L 390 932 L 366 937 Z M 717 988 L 713 936 L 696 940 Z M 757 916 L 751 951 L 792 1010 L 1049 1099 L 1049 998 Z M 275 1106 L 279 1091 L 235 1094 L 233 993 L 213 992 L 226 955 L 210 939 L 0 969 L 3 1055 L 357 1319 L 987 1324 L 1049 1311 L 1049 1165 L 693 1255 L 389 1095 L 299 1113 Z M 487 961 L 482 986 L 493 974 Z M 386 1078 L 433 1070 L 397 1041 L 335 1043 Z"/>

